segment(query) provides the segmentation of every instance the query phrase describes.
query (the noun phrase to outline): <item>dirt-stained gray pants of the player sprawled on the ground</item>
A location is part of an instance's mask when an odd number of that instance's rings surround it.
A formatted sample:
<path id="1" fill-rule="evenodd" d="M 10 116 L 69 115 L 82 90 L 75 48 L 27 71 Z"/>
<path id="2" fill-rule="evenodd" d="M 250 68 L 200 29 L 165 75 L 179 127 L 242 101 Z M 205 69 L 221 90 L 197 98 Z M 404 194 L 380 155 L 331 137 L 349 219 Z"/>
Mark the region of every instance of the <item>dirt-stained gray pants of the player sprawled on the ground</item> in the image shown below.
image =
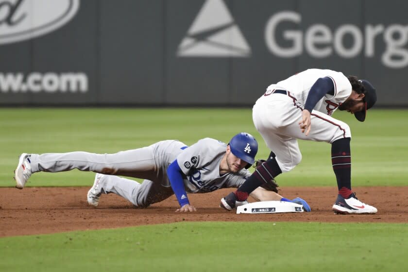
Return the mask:
<path id="1" fill-rule="evenodd" d="M 163 173 L 163 167 L 156 162 L 157 157 L 154 157 L 156 145 L 157 143 L 114 154 L 87 152 L 32 154 L 31 167 L 33 173 L 78 169 L 106 174 L 101 179 L 100 188 L 103 192 L 118 194 L 138 207 L 148 207 L 174 194 L 171 187 L 162 182 L 163 179 L 167 179 L 167 173 Z M 145 180 L 139 184 L 115 175 Z"/>

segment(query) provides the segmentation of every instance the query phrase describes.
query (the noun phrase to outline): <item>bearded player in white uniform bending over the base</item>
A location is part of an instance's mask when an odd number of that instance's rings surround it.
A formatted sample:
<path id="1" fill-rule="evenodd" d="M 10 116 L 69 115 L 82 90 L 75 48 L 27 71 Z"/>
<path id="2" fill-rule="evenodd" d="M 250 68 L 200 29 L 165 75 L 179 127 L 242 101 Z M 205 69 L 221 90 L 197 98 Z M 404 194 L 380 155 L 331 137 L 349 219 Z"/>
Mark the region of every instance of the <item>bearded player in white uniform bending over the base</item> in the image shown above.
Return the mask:
<path id="1" fill-rule="evenodd" d="M 231 209 L 265 180 L 292 170 L 302 159 L 297 142 L 302 139 L 331 144 L 339 189 L 332 207 L 335 213 L 376 213 L 351 189 L 350 127 L 331 117 L 339 108 L 364 121 L 375 102 L 376 92 L 368 81 L 328 69 L 308 69 L 270 85 L 254 105 L 253 120 L 272 152 L 237 191 L 221 199 L 221 207 Z"/>

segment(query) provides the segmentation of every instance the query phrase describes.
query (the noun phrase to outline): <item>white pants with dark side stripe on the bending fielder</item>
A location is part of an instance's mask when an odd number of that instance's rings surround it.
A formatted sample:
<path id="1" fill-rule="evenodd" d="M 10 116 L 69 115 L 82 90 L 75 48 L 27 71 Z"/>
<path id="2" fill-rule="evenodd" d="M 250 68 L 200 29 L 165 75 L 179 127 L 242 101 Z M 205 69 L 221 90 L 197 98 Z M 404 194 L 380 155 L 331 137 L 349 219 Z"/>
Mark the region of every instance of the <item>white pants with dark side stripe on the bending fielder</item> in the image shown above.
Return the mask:
<path id="1" fill-rule="evenodd" d="M 260 97 L 253 108 L 256 130 L 268 148 L 276 154 L 282 172 L 292 170 L 302 160 L 297 139 L 332 143 L 351 137 L 350 127 L 321 112 L 312 111 L 311 130 L 308 136 L 299 127 L 304 105 L 288 94 L 272 93 Z"/>

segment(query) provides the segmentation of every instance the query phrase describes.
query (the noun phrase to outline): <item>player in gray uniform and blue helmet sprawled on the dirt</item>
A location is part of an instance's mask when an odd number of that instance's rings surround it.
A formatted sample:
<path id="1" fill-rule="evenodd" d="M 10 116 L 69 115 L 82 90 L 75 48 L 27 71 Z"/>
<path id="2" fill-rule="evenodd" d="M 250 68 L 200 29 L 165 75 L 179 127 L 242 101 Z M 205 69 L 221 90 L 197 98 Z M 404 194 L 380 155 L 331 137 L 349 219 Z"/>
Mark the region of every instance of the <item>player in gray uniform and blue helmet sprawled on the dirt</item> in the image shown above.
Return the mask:
<path id="1" fill-rule="evenodd" d="M 86 152 L 27 154 L 19 157 L 15 170 L 16 187 L 22 189 L 32 173 L 72 169 L 96 172 L 87 201 L 97 206 L 103 193 L 115 193 L 137 207 L 148 207 L 175 194 L 177 211 L 196 211 L 187 193 L 206 193 L 219 188 L 238 188 L 251 173 L 258 143 L 248 133 L 239 133 L 229 144 L 204 138 L 187 147 L 177 140 L 165 140 L 148 147 L 115 154 Z M 142 178 L 139 184 L 117 175 Z M 262 187 L 251 194 L 258 201 L 280 200 L 310 207 L 301 198 L 289 200 Z M 235 205 L 247 203 L 238 202 Z"/>

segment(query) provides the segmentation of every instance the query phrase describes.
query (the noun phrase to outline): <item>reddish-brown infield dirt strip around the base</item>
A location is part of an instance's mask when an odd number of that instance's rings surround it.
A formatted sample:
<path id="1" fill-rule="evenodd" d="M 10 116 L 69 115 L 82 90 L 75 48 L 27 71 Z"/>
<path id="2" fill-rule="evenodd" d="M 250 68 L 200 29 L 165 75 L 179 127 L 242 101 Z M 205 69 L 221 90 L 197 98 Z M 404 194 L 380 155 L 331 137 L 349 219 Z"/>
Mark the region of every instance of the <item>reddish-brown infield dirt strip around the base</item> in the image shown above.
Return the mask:
<path id="1" fill-rule="evenodd" d="M 307 221 L 307 222 L 408 222 L 408 187 L 355 187 L 363 202 L 377 207 L 375 215 L 335 215 L 331 210 L 335 187 L 287 187 L 287 198 L 300 196 L 310 213 L 236 214 L 218 207 L 231 189 L 190 194 L 195 213 L 175 213 L 176 198 L 147 209 L 134 208 L 125 199 L 102 195 L 98 208 L 88 206 L 89 187 L 0 188 L 0 237 L 57 233 L 74 230 L 117 228 L 178 221 Z"/>

